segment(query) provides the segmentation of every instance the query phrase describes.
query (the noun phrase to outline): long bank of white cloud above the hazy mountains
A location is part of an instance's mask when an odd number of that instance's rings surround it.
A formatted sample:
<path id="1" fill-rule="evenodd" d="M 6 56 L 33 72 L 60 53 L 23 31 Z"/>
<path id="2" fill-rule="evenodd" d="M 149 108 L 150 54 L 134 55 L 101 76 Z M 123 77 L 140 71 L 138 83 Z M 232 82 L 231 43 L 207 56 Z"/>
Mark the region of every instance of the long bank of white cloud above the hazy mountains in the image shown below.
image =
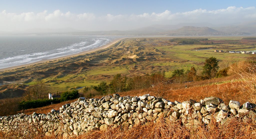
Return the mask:
<path id="1" fill-rule="evenodd" d="M 0 31 L 26 30 L 31 28 L 63 28 L 72 27 L 78 30 L 128 30 L 152 24 L 178 24 L 220 22 L 232 24 L 238 21 L 255 20 L 255 7 L 235 7 L 226 9 L 206 10 L 195 9 L 186 12 L 172 13 L 165 10 L 161 13 L 142 13 L 138 15 L 96 16 L 93 13 L 73 14 L 72 11 L 55 10 L 52 13 L 24 12 L 11 13 L 6 10 L 0 12 Z"/>

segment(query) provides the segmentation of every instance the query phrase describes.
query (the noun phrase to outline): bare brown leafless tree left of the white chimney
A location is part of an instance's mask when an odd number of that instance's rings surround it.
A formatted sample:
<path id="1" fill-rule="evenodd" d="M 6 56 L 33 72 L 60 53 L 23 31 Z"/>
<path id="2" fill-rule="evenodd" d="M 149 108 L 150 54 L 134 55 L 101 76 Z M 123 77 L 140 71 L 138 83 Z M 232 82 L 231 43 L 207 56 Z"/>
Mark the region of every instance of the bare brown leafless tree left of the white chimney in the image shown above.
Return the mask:
<path id="1" fill-rule="evenodd" d="M 45 98 L 48 93 L 48 87 L 42 81 L 36 81 L 34 85 L 31 85 L 25 91 L 25 100 L 38 100 Z"/>

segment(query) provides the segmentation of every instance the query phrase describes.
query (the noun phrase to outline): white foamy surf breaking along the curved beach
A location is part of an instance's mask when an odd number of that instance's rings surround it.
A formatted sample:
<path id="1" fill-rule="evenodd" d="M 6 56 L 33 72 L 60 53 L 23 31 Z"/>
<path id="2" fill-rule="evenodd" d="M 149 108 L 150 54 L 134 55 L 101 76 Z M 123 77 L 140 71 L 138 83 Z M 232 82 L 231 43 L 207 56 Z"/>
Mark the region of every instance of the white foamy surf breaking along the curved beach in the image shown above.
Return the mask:
<path id="1" fill-rule="evenodd" d="M 86 38 L 86 39 L 85 39 Z M 0 69 L 1 68 L 7 68 L 17 65 L 23 65 L 23 64 L 29 64 L 33 62 L 38 62 L 41 60 L 48 60 L 53 58 L 58 58 L 70 54 L 76 54 L 82 51 L 91 50 L 97 47 L 100 47 L 102 45 L 105 45 L 112 41 L 116 37 L 88 37 L 88 36 L 82 36 L 79 37 L 81 39 L 80 41 L 70 44 L 68 46 L 63 46 L 61 48 L 51 48 L 50 43 L 46 43 L 45 47 L 39 47 L 37 52 L 30 53 L 30 54 L 22 54 L 27 52 L 28 50 L 14 50 L 9 52 L 3 52 L 3 54 L 13 54 L 15 56 L 13 57 L 5 57 L 0 59 Z M 38 42 L 40 44 L 40 42 Z M 54 43 L 56 44 L 56 43 Z M 19 44 L 17 44 L 19 45 Z M 37 45 L 37 44 L 34 44 Z M 58 44 L 56 44 L 58 45 Z M 62 45 L 62 44 L 59 44 Z M 1 46 L 1 43 L 0 43 Z M 33 47 L 33 46 L 31 46 Z M 27 46 L 27 48 L 31 48 L 30 46 Z M 46 51 L 43 51 L 46 50 Z M 36 51 L 36 50 L 34 50 Z M 0 53 L 1 54 L 1 53 Z M 6 55 L 7 55 L 6 54 Z M 22 55 L 17 55 L 22 54 Z"/>

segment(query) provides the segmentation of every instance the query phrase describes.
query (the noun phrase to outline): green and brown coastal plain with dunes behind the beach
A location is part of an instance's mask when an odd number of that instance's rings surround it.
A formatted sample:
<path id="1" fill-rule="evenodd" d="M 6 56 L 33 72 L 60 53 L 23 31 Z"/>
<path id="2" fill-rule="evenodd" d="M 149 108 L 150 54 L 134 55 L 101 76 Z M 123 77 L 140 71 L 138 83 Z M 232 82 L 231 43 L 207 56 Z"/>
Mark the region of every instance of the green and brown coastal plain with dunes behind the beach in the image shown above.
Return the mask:
<path id="1" fill-rule="evenodd" d="M 243 37 L 186 37 L 236 42 L 212 45 L 176 44 L 169 41 L 172 38 L 175 37 L 125 38 L 94 52 L 1 71 L 0 80 L 25 85 L 33 85 L 37 80 L 42 80 L 50 86 L 52 93 L 56 93 L 98 85 L 101 81 L 108 82 L 118 73 L 133 77 L 165 72 L 168 78 L 174 69 L 182 68 L 186 71 L 194 66 L 197 71 L 202 71 L 206 58 L 216 57 L 220 63 L 227 59 L 239 61 L 252 54 L 228 51 L 249 51 L 256 48 L 253 43 L 240 42 Z M 0 90 L 3 92 L 7 88 L 8 86 L 5 86 Z"/>

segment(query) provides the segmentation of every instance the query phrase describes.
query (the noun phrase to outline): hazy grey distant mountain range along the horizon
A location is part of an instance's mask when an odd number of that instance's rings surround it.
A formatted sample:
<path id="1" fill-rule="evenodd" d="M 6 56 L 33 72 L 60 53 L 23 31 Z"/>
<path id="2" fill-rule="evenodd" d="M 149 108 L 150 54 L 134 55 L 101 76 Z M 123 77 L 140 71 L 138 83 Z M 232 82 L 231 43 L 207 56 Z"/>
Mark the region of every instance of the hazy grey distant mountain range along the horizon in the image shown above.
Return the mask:
<path id="1" fill-rule="evenodd" d="M 193 24 L 193 25 L 196 25 Z M 199 24 L 198 24 L 199 25 Z M 210 24 L 209 24 L 210 25 Z M 212 26 L 212 25 L 211 25 Z M 0 32 L 0 34 L 13 34 Z M 206 26 L 188 26 L 187 24 L 178 25 L 151 25 L 126 31 L 83 31 L 72 28 L 65 29 L 30 29 L 16 34 L 36 34 L 36 35 L 166 35 L 166 36 L 216 36 L 216 35 L 255 35 L 256 21 L 241 23 L 237 25 L 206 27 Z"/>

